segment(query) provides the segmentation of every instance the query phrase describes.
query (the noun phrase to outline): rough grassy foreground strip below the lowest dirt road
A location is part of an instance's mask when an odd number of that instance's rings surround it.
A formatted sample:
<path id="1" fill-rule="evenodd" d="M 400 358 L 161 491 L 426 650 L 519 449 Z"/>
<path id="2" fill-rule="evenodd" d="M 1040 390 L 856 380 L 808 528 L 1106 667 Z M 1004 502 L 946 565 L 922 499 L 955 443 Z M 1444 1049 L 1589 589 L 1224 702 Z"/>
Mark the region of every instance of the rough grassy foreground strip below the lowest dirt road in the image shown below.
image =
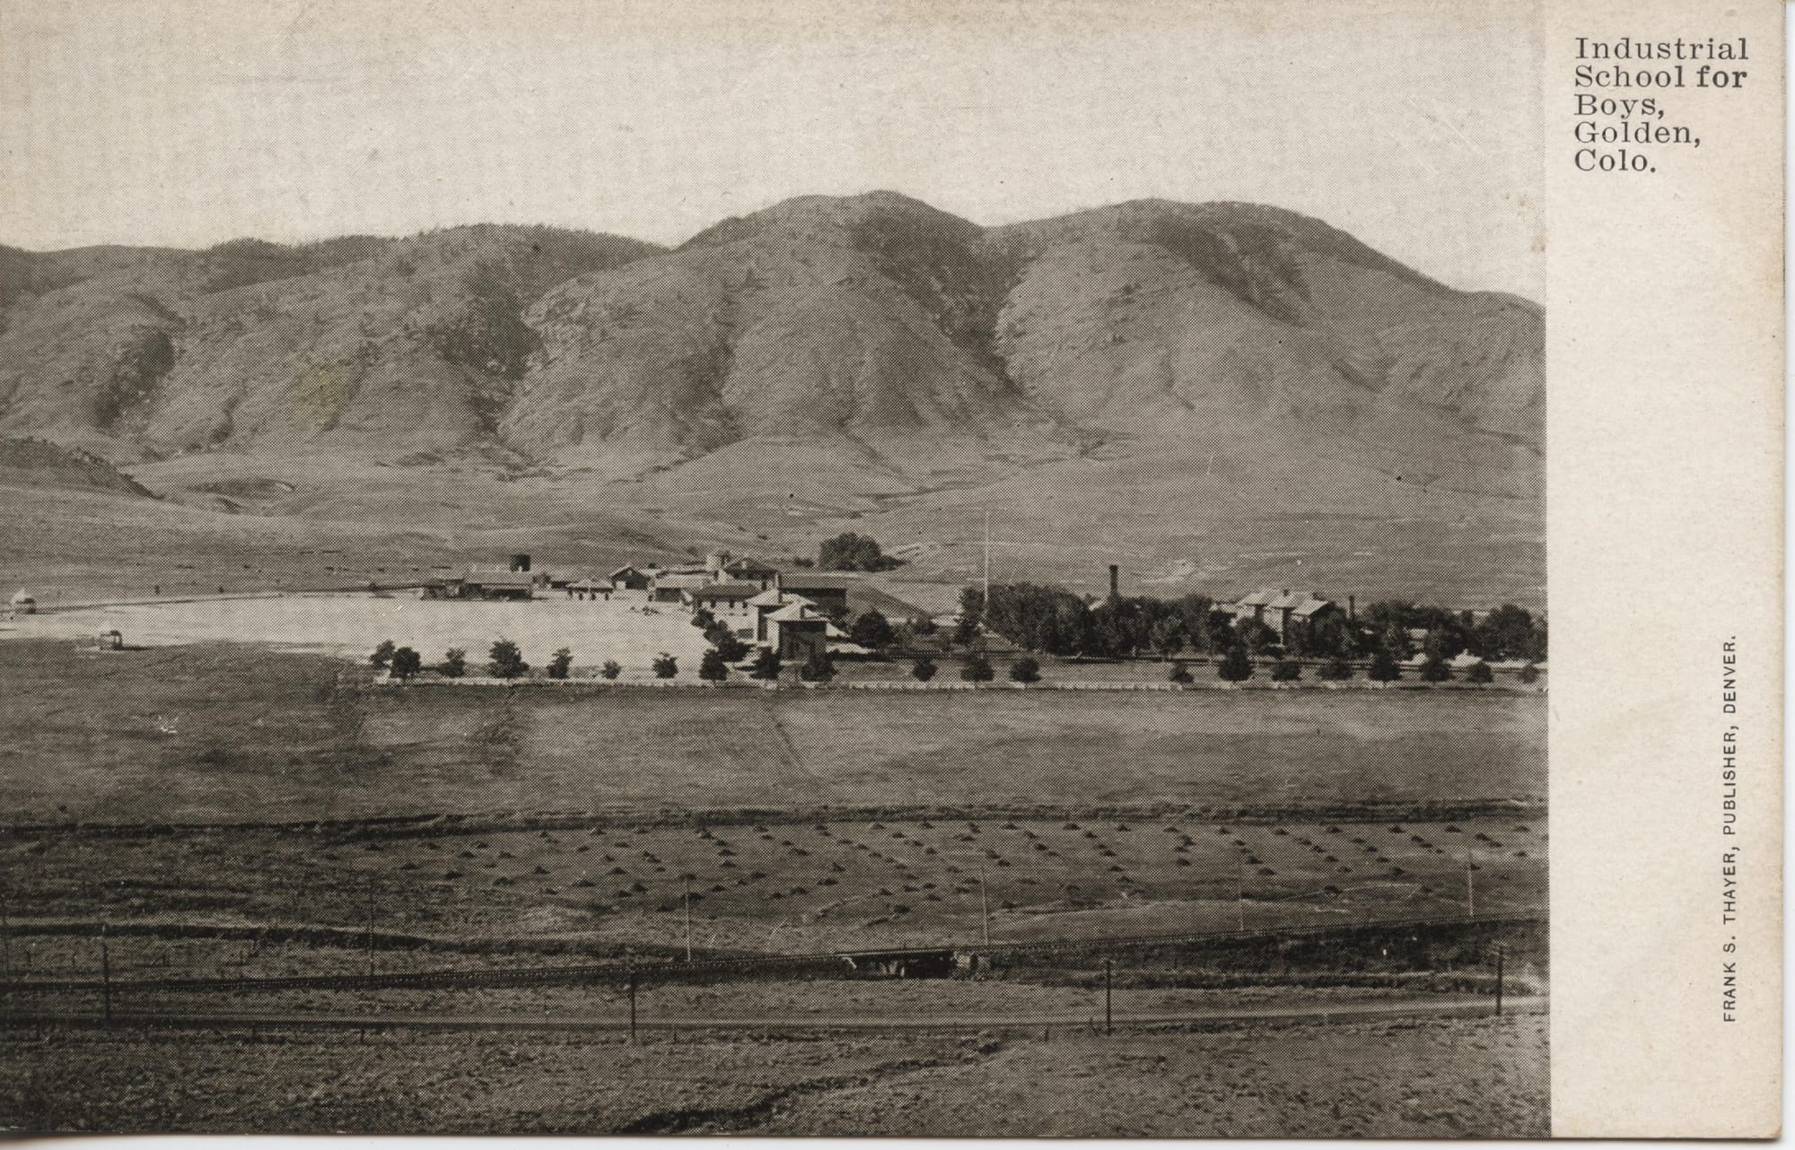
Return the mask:
<path id="1" fill-rule="evenodd" d="M 0 1128 L 1545 1134 L 1545 1019 L 1045 1037 L 0 1033 Z"/>

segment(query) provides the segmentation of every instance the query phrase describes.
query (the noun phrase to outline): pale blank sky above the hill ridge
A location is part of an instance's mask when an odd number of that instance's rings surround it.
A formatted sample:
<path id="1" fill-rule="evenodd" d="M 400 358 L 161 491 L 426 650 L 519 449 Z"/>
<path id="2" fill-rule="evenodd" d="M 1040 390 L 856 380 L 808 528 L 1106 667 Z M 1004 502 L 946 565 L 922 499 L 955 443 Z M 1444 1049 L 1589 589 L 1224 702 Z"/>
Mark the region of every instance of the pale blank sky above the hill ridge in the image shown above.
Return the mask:
<path id="1" fill-rule="evenodd" d="M 1538 300 L 1538 56 L 1501 0 L 0 0 L 0 244 L 1246 199 Z"/>

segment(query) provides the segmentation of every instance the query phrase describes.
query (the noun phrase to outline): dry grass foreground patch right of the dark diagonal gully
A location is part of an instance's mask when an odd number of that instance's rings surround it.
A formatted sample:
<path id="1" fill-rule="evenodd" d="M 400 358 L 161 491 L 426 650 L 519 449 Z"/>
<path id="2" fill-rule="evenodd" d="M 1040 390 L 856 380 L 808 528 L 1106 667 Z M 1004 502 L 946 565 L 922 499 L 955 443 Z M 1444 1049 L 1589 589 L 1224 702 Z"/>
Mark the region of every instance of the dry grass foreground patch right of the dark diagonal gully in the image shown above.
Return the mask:
<path id="1" fill-rule="evenodd" d="M 1016 1042 L 971 1066 L 917 1067 L 781 1100 L 747 1128 L 896 1137 L 1544 1137 L 1545 1017 Z"/>

